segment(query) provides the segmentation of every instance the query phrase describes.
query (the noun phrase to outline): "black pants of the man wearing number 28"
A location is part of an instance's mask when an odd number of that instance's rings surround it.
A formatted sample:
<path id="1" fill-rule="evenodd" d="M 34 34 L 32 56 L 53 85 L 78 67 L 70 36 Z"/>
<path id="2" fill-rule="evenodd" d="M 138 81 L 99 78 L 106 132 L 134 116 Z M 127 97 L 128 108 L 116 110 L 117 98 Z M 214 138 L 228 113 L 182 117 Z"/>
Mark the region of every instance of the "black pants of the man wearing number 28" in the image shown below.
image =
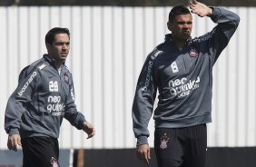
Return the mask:
<path id="1" fill-rule="evenodd" d="M 21 140 L 24 167 L 58 167 L 59 143 L 50 137 L 28 137 Z"/>

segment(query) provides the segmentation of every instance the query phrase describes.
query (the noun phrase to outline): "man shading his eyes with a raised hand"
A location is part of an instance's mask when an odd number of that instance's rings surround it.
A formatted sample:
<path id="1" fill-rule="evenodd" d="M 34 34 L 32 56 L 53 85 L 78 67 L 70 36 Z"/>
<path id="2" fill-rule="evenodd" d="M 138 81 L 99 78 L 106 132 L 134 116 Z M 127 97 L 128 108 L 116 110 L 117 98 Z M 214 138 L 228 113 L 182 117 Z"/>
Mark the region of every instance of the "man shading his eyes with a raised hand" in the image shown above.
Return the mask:
<path id="1" fill-rule="evenodd" d="M 238 15 L 221 7 L 196 0 L 189 7 L 193 14 L 209 16 L 218 25 L 192 39 L 190 10 L 174 6 L 167 23 L 172 34 L 166 34 L 165 42 L 147 56 L 133 100 L 137 155 L 149 163 L 147 126 L 153 114 L 159 167 L 204 167 L 206 123 L 212 122 L 212 67 L 240 22 Z M 159 102 L 153 113 L 157 90 Z"/>

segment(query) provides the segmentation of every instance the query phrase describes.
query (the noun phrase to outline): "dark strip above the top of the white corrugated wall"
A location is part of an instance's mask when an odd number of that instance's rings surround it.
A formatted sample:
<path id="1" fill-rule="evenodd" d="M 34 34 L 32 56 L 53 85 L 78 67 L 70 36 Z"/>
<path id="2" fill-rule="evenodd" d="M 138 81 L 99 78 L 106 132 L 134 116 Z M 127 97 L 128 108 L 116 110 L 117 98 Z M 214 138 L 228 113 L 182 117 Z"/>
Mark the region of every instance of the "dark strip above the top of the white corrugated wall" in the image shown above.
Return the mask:
<path id="1" fill-rule="evenodd" d="M 0 5 L 117 5 L 168 6 L 185 4 L 190 0 L 0 0 Z M 206 5 L 256 6 L 256 0 L 201 0 Z"/>

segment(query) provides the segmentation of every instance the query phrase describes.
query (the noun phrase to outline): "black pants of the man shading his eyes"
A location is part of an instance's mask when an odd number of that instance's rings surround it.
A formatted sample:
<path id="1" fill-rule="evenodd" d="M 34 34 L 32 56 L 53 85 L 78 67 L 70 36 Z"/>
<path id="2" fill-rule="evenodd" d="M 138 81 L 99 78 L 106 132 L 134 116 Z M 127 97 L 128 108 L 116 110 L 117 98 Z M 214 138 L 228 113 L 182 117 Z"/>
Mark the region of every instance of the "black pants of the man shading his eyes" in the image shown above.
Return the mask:
<path id="1" fill-rule="evenodd" d="M 158 167 L 204 167 L 206 124 L 186 128 L 157 128 L 154 150 Z"/>

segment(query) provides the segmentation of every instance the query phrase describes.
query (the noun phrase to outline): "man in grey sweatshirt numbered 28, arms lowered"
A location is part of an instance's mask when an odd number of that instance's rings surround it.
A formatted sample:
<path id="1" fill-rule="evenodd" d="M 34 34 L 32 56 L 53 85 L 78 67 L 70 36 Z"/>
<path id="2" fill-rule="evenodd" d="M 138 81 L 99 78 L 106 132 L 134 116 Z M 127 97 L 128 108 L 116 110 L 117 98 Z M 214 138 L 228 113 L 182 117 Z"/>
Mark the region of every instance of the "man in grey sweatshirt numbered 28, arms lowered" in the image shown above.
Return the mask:
<path id="1" fill-rule="evenodd" d="M 63 118 L 88 138 L 95 133 L 94 125 L 76 110 L 73 77 L 64 64 L 70 50 L 69 30 L 51 29 L 45 45 L 48 54 L 22 70 L 5 111 L 7 146 L 16 152 L 22 145 L 25 167 L 59 166 L 57 138 Z"/>

